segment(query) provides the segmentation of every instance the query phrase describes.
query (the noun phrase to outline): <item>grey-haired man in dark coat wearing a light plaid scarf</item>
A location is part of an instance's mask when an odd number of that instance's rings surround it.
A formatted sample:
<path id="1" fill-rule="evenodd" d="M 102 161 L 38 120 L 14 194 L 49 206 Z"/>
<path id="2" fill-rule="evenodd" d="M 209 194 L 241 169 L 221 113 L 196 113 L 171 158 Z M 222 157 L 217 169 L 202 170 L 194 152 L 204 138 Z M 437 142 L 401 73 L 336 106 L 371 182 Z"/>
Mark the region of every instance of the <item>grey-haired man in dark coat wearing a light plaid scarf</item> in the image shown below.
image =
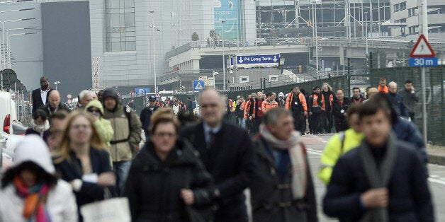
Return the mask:
<path id="1" fill-rule="evenodd" d="M 316 222 L 317 204 L 308 157 L 290 110 L 263 115 L 254 136 L 257 169 L 250 191 L 254 222 Z"/>

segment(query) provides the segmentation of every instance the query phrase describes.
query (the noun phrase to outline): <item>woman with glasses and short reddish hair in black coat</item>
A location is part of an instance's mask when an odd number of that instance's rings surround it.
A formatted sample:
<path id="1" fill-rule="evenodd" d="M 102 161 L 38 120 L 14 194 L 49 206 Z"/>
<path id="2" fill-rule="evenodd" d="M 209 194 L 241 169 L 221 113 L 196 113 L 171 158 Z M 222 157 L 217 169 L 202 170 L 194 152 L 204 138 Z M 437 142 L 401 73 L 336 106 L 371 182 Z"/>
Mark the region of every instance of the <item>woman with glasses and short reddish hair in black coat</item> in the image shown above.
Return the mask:
<path id="1" fill-rule="evenodd" d="M 179 123 L 171 109 L 152 116 L 150 141 L 130 168 L 123 196 L 132 221 L 193 221 L 186 206 L 213 199 L 213 182 L 188 142 L 177 138 Z"/>

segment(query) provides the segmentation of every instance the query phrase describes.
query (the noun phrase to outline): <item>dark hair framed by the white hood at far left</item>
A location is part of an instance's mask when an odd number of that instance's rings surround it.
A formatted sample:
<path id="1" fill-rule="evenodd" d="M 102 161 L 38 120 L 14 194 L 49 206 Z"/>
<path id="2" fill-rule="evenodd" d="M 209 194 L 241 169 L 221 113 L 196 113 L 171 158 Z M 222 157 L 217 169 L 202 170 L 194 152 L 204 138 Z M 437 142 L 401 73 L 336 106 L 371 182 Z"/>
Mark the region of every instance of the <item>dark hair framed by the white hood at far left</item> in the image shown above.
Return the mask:
<path id="1" fill-rule="evenodd" d="M 57 177 L 55 177 L 55 175 L 47 173 L 45 170 L 43 170 L 43 168 L 31 161 L 26 161 L 21 163 L 21 165 L 18 165 L 6 171 L 4 177 L 1 179 L 1 187 L 5 188 L 6 186 L 8 186 L 11 182 L 13 182 L 14 178 L 23 170 L 29 170 L 30 172 L 34 173 L 36 177 L 35 181 L 37 183 L 43 182 L 50 187 L 53 187 L 57 184 Z"/>

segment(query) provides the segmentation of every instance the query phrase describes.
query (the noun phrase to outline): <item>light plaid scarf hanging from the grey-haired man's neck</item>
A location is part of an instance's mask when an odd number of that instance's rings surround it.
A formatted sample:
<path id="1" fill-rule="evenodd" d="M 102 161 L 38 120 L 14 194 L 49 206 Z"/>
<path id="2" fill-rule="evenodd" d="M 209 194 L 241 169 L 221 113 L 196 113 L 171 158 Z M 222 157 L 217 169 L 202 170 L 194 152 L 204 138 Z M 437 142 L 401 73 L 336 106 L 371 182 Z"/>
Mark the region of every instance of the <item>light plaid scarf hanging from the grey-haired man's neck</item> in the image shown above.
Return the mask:
<path id="1" fill-rule="evenodd" d="M 300 142 L 300 134 L 293 132 L 291 138 L 286 141 L 278 140 L 271 134 L 264 124 L 259 126 L 261 136 L 271 147 L 279 150 L 287 150 L 291 156 L 292 164 L 292 194 L 294 199 L 301 199 L 306 195 L 308 185 L 307 163 L 305 158 L 305 148 Z"/>

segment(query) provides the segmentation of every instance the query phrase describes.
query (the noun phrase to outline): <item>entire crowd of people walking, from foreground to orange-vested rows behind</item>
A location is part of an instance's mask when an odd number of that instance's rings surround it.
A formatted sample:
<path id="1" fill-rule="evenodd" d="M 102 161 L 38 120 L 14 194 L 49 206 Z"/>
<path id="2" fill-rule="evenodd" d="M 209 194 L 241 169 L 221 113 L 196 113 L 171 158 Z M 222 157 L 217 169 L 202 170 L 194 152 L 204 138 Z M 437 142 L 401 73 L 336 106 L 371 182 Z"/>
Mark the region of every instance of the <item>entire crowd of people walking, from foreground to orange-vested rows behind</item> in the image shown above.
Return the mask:
<path id="1" fill-rule="evenodd" d="M 416 100 L 411 81 L 406 92 L 393 82 L 386 93 L 378 93 L 383 84 L 368 88 L 366 98 L 327 83 L 308 95 L 295 86 L 235 101 L 204 88 L 199 118 L 191 98 L 184 105 L 153 96 L 137 115 L 112 88 L 81 91 L 69 113 L 47 79 L 40 83 L 32 135 L 1 178 L 0 221 L 82 221 L 81 206 L 126 197 L 132 221 L 244 222 L 247 188 L 253 221 L 318 221 L 307 123 L 310 134 L 337 132 L 318 173 L 325 214 L 434 221 L 424 141 L 404 103 Z"/>

